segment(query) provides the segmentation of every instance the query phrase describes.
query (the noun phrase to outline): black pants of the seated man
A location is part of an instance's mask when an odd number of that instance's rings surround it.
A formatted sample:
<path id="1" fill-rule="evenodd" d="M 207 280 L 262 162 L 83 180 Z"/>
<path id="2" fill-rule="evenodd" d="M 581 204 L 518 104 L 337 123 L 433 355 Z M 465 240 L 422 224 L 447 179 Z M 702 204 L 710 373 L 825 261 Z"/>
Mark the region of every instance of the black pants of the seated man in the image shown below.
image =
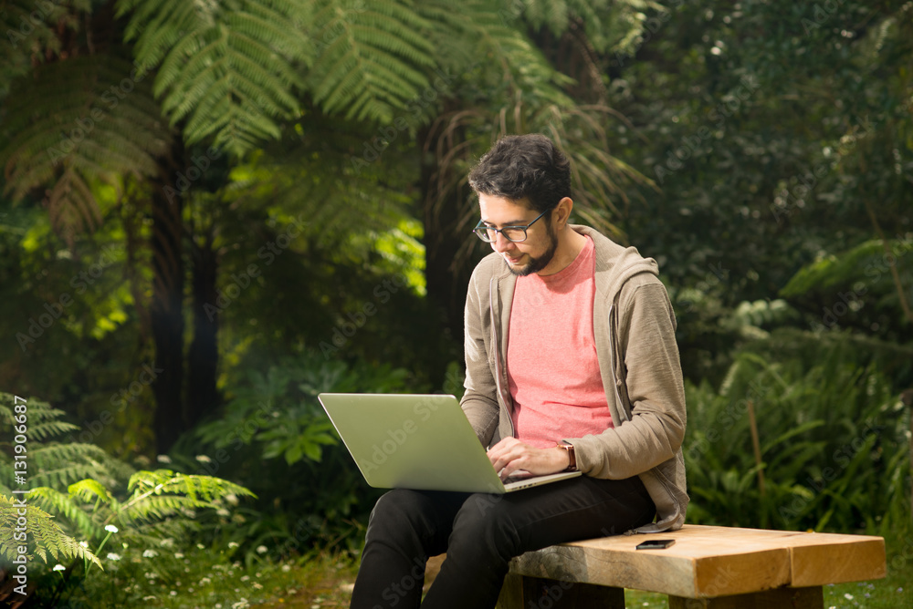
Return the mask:
<path id="1" fill-rule="evenodd" d="M 494 607 L 512 557 L 623 533 L 655 514 L 636 476 L 581 476 L 506 495 L 391 490 L 371 513 L 351 607 Z M 446 560 L 423 604 L 425 563 L 442 552 Z"/>

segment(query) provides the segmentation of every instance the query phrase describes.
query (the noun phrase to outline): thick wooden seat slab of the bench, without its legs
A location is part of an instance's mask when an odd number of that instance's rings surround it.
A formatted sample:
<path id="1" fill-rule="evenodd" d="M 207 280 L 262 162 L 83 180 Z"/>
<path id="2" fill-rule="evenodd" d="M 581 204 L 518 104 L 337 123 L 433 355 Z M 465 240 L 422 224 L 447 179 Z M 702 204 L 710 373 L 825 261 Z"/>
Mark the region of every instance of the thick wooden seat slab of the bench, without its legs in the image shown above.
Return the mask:
<path id="1" fill-rule="evenodd" d="M 635 550 L 674 539 L 665 550 Z M 563 543 L 514 558 L 510 573 L 683 598 L 880 579 L 885 541 L 868 535 L 685 525 L 676 532 Z"/>

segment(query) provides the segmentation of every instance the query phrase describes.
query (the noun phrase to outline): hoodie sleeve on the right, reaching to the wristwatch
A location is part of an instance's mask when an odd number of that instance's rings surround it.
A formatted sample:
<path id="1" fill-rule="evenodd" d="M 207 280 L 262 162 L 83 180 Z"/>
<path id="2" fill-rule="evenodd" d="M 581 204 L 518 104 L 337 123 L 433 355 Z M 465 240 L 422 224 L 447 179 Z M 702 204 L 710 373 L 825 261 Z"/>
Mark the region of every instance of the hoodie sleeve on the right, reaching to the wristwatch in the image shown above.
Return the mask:
<path id="1" fill-rule="evenodd" d="M 614 428 L 599 435 L 569 439 L 584 473 L 616 480 L 673 459 L 686 424 L 675 314 L 665 286 L 656 277 L 629 280 L 617 306 L 618 351 L 614 356 L 621 361 L 614 362 L 616 396 L 623 402 L 618 408 L 628 412 L 628 420 L 615 421 Z M 597 340 L 611 341 L 612 337 L 597 336 Z"/>

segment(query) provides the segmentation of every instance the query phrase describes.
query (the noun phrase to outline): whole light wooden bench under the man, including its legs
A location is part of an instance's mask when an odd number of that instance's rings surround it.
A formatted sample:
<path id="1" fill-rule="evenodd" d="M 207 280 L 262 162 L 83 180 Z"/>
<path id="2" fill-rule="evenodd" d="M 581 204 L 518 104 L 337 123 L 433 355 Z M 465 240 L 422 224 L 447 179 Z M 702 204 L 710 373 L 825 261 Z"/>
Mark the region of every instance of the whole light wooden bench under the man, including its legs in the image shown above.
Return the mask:
<path id="1" fill-rule="evenodd" d="M 635 550 L 649 539 L 676 543 Z M 670 609 L 823 609 L 825 583 L 886 572 L 881 537 L 685 525 L 527 552 L 511 561 L 498 608 L 623 609 L 632 588 L 668 594 Z"/>

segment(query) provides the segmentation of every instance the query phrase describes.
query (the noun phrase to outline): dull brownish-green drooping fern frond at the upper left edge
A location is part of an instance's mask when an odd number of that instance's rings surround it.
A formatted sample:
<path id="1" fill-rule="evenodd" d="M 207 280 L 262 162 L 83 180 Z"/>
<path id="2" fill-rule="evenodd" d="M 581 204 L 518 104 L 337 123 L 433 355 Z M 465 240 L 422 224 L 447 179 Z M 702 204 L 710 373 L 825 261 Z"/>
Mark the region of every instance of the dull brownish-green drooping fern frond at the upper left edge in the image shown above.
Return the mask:
<path id="1" fill-rule="evenodd" d="M 152 175 L 155 156 L 169 146 L 143 76 L 113 53 L 77 57 L 37 67 L 5 100 L 5 193 L 16 201 L 46 192 L 54 229 L 71 246 L 101 222 L 93 188 Z"/>

